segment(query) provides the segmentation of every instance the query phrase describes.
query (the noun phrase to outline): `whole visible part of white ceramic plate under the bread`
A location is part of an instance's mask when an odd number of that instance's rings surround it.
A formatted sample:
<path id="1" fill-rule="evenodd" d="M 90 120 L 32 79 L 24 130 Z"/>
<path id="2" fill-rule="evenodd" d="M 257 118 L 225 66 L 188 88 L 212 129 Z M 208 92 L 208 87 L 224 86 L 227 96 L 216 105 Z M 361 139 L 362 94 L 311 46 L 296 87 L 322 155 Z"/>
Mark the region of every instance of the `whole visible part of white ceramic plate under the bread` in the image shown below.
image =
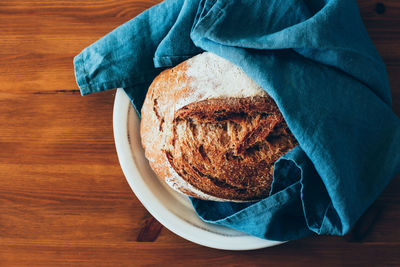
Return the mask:
<path id="1" fill-rule="evenodd" d="M 217 249 L 251 250 L 282 243 L 200 220 L 189 199 L 162 183 L 151 170 L 141 146 L 139 125 L 128 96 L 118 89 L 113 115 L 118 159 L 132 191 L 161 224 L 189 241 Z"/>

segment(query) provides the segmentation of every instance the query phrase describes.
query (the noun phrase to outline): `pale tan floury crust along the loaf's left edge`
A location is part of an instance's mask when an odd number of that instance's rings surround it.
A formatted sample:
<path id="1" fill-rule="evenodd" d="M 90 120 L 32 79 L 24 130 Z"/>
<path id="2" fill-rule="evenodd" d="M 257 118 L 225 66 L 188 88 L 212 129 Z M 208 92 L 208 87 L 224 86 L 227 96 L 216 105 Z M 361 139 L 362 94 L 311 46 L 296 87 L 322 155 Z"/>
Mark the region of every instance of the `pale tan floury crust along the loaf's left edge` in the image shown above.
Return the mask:
<path id="1" fill-rule="evenodd" d="M 152 82 L 141 110 L 140 134 L 145 156 L 157 176 L 175 190 L 197 197 L 181 177 L 175 173 L 166 157 L 165 148 L 171 143 L 172 120 L 179 99 L 193 91 L 185 74 L 187 63 L 161 72 Z M 181 90 L 176 90 L 181 88 Z"/>

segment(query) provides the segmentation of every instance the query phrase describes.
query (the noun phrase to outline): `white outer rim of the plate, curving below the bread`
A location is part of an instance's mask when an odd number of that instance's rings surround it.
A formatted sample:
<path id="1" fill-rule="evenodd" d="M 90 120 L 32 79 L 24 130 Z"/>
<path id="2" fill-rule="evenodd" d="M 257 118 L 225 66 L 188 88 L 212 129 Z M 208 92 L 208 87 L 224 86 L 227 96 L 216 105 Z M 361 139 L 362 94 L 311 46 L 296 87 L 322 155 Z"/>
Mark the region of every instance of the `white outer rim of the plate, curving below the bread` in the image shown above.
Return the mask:
<path id="1" fill-rule="evenodd" d="M 123 89 L 118 88 L 113 109 L 113 132 L 118 160 L 133 193 L 146 210 L 164 227 L 193 243 L 221 250 L 255 250 L 285 243 L 247 234 L 241 236 L 219 235 L 178 217 L 168 208 L 163 208 L 162 203 L 157 198 L 150 201 L 148 196 L 152 195 L 151 190 L 147 188 L 144 182 L 141 182 L 141 179 L 135 178 L 142 177 L 142 175 L 136 167 L 128 138 L 129 108 L 134 109 L 129 97 Z M 135 115 L 137 116 L 136 112 Z"/>

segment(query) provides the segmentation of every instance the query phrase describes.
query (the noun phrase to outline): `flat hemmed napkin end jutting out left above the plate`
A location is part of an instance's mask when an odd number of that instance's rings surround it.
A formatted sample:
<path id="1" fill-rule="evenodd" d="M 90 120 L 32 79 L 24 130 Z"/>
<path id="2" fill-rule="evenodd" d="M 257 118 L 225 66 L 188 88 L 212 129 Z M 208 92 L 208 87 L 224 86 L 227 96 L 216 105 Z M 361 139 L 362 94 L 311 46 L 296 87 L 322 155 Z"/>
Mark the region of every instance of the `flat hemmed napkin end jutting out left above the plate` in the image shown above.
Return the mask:
<path id="1" fill-rule="evenodd" d="M 145 95 L 161 69 L 153 56 L 176 22 L 184 0 L 164 1 L 119 26 L 74 58 L 82 95 L 131 88 L 129 95 Z M 144 87 L 146 86 L 146 87 Z"/>

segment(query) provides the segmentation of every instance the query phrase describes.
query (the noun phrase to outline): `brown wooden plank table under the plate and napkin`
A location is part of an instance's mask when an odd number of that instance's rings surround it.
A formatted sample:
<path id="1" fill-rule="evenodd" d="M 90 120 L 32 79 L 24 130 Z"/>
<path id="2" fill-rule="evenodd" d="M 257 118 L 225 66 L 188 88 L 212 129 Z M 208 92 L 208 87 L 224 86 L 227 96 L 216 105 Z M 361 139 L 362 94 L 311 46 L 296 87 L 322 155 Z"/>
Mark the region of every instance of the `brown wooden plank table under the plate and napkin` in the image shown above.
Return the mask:
<path id="1" fill-rule="evenodd" d="M 114 91 L 81 97 L 72 59 L 157 1 L 1 0 L 0 265 L 400 265 L 400 176 L 365 236 L 256 251 L 201 247 L 161 227 L 131 192 L 112 132 Z M 400 115 L 400 1 L 359 0 Z"/>

